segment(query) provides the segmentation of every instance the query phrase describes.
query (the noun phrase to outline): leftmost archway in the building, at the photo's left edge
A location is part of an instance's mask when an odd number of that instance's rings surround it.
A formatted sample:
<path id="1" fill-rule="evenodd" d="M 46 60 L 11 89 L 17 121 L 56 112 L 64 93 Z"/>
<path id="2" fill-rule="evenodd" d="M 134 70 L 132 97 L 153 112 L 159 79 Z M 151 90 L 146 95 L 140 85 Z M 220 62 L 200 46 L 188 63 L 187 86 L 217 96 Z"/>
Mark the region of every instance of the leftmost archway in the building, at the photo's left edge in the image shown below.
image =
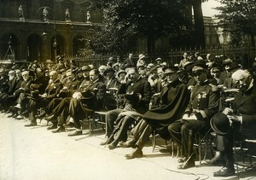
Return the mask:
<path id="1" fill-rule="evenodd" d="M 17 60 L 17 38 L 15 34 L 4 34 L 0 42 L 0 59 Z"/>

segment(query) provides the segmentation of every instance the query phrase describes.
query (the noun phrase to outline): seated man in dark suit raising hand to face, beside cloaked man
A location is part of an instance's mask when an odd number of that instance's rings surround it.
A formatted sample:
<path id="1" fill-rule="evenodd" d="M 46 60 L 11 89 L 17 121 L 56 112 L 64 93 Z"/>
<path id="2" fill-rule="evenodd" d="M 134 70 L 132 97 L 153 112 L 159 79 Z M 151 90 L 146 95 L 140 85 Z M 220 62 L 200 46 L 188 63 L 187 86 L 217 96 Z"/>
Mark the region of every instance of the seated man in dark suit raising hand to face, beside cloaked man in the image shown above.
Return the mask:
<path id="1" fill-rule="evenodd" d="M 114 124 L 118 123 L 119 113 L 126 112 L 136 112 L 136 113 L 145 113 L 148 111 L 148 104 L 151 98 L 151 87 L 147 80 L 140 78 L 137 69 L 131 67 L 126 74 L 126 83 L 121 84 L 119 87 L 119 94 L 125 94 L 125 108 L 124 109 L 113 109 L 108 111 L 106 114 L 106 123 L 107 123 L 107 136 L 108 138 L 112 135 Z M 131 117 L 131 114 L 125 116 L 125 122 L 130 124 L 134 122 L 134 117 Z M 136 118 L 137 119 L 137 118 Z M 119 140 L 126 141 L 127 136 L 122 136 Z M 106 143 L 113 142 L 113 136 L 108 140 L 101 143 L 105 145 Z"/>

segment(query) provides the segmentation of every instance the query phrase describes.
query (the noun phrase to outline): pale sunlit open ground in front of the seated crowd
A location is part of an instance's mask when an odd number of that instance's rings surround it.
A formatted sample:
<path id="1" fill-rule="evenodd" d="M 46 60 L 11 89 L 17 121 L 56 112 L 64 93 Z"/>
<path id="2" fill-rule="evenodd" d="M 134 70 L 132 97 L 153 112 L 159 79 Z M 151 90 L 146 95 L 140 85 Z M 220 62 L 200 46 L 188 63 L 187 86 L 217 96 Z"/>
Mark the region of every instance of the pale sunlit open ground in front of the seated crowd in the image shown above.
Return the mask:
<path id="1" fill-rule="evenodd" d="M 93 136 L 67 136 L 46 130 L 46 122 L 25 127 L 27 121 L 6 118 L 0 113 L 0 179 L 256 179 L 255 165 L 239 165 L 239 177 L 212 177 L 218 166 L 205 164 L 185 171 L 177 170 L 177 159 L 161 154 L 160 147 L 152 153 L 150 143 L 143 149 L 144 157 L 125 160 L 132 148 L 108 150 L 98 144 L 103 131 Z M 72 131 L 68 129 L 67 131 Z"/>

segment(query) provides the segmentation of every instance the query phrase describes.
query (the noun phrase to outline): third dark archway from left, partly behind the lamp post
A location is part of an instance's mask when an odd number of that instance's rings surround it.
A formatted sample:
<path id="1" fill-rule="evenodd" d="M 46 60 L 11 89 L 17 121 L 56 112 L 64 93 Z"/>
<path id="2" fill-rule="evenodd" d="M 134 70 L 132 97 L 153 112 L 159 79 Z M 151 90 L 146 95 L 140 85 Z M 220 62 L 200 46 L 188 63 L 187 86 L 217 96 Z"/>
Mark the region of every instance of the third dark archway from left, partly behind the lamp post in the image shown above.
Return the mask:
<path id="1" fill-rule="evenodd" d="M 55 61 L 56 55 L 64 55 L 65 56 L 65 47 L 66 41 L 61 35 L 56 36 L 56 46 L 55 46 L 55 37 L 51 38 L 51 60 Z"/>

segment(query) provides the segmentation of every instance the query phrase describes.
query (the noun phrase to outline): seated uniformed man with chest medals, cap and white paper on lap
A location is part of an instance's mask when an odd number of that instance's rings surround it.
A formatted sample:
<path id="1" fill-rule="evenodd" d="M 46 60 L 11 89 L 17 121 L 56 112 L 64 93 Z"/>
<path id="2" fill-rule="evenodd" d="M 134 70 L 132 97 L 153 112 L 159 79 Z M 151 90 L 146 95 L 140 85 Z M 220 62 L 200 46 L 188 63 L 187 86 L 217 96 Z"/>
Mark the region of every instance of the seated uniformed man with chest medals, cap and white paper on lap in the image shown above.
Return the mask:
<path id="1" fill-rule="evenodd" d="M 191 90 L 190 102 L 182 119 L 169 125 L 172 139 L 182 149 L 183 158 L 178 162 L 179 169 L 195 166 L 194 157 L 186 162 L 193 152 L 195 133 L 206 133 L 210 129 L 210 119 L 218 112 L 219 92 L 212 87 L 207 79 L 207 66 L 204 61 L 195 61 L 192 65 L 192 75 L 197 84 Z"/>

